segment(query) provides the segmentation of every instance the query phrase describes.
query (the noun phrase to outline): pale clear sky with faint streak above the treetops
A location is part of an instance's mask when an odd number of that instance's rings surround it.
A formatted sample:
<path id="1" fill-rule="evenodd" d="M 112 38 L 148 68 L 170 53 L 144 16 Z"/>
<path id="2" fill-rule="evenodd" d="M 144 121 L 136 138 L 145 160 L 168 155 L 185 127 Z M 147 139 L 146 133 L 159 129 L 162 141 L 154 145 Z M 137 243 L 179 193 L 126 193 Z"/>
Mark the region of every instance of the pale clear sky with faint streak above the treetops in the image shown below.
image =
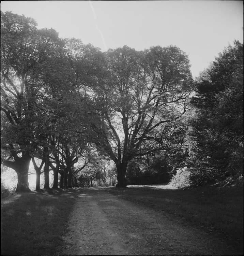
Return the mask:
<path id="1" fill-rule="evenodd" d="M 243 43 L 243 1 L 1 1 L 1 11 L 102 51 L 176 45 L 188 55 L 193 77 L 234 40 Z"/>

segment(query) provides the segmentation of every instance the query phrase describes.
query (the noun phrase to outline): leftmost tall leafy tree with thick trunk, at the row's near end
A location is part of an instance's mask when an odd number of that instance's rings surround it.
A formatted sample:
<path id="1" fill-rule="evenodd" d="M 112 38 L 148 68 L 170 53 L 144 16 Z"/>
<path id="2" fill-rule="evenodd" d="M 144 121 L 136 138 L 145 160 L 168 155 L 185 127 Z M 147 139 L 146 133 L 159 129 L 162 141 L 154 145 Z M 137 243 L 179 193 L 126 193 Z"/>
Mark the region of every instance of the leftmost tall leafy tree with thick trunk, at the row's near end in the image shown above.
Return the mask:
<path id="1" fill-rule="evenodd" d="M 34 113 L 27 88 L 36 61 L 35 39 L 36 23 L 33 19 L 1 12 L 1 111 L 4 113 L 1 148 L 6 156 L 1 162 L 16 171 L 16 191 L 29 191 L 32 134 L 27 124 Z"/>

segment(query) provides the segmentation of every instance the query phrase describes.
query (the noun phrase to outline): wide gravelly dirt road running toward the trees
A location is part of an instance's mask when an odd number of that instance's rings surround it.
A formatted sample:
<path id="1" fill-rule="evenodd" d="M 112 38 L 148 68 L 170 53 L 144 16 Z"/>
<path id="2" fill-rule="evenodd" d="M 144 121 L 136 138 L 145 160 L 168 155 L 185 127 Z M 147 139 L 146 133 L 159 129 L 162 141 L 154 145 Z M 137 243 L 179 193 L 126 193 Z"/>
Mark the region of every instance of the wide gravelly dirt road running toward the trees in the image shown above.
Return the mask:
<path id="1" fill-rule="evenodd" d="M 211 234 L 111 195 L 106 188 L 78 191 L 58 255 L 233 255 Z"/>

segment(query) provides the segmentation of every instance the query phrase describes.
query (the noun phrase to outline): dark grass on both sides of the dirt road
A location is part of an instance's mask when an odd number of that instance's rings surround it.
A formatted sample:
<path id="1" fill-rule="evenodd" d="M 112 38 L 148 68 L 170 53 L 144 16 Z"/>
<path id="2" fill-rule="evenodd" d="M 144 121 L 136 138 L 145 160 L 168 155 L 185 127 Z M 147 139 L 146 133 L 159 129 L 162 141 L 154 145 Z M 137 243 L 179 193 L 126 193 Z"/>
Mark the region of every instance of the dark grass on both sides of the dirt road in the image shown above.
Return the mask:
<path id="1" fill-rule="evenodd" d="M 82 190 L 21 193 L 2 199 L 2 255 L 57 255 L 65 246 L 67 219 Z M 243 185 L 185 190 L 111 187 L 106 191 L 222 237 L 237 252 L 243 250 Z"/>

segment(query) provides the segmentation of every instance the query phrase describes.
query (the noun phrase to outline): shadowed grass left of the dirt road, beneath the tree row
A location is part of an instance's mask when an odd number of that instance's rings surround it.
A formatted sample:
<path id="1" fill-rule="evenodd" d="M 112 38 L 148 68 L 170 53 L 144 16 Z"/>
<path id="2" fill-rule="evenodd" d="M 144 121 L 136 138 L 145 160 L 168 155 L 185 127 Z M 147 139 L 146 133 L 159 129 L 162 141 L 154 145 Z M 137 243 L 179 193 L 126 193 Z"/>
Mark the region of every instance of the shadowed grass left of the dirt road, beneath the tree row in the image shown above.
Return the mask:
<path id="1" fill-rule="evenodd" d="M 1 200 L 1 255 L 57 255 L 79 189 L 40 190 Z"/>

